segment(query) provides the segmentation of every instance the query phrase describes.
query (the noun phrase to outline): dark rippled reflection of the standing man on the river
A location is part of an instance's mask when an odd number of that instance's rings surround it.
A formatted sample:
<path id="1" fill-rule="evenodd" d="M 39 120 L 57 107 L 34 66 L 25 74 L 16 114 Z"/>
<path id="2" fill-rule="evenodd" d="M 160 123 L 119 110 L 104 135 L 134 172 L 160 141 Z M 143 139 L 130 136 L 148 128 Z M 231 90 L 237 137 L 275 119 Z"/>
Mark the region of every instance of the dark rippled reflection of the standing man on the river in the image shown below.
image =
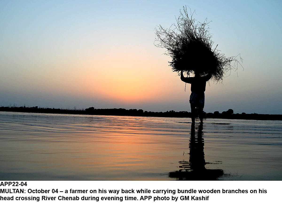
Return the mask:
<path id="1" fill-rule="evenodd" d="M 191 125 L 191 136 L 189 143 L 189 162 L 180 161 L 179 171 L 170 172 L 169 177 L 179 180 L 217 180 L 223 175 L 222 169 L 206 169 L 204 154 L 203 124 L 195 131 L 195 124 Z"/>

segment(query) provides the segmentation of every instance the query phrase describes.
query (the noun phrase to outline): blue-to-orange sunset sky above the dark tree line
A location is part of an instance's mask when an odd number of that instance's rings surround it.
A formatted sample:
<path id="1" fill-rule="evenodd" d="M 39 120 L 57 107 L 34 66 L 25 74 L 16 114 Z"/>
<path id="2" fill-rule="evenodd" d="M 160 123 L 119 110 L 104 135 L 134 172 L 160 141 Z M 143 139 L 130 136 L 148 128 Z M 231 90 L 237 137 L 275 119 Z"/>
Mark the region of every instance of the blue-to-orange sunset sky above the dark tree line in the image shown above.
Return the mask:
<path id="1" fill-rule="evenodd" d="M 282 114 L 281 1 L 0 1 L 0 105 L 190 111 L 190 85 L 154 45 L 187 5 L 243 68 L 206 112 Z M 238 74 L 238 76 L 237 76 Z"/>

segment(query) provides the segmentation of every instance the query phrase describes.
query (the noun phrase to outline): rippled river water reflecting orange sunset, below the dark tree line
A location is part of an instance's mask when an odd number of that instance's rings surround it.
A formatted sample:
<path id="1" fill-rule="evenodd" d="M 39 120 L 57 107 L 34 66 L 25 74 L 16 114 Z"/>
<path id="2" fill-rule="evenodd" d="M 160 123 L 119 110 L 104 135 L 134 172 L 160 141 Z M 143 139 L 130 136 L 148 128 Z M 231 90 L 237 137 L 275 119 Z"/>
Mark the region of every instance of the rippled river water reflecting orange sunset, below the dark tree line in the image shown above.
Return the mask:
<path id="1" fill-rule="evenodd" d="M 1 180 L 282 180 L 282 122 L 0 112 Z"/>

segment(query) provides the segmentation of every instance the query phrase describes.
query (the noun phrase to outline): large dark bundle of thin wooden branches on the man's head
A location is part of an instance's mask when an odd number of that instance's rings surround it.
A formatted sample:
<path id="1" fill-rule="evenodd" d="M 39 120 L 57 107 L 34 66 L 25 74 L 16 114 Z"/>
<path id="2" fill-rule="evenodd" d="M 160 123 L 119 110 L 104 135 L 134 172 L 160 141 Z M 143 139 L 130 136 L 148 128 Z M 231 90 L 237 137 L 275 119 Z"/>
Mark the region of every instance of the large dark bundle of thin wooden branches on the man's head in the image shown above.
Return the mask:
<path id="1" fill-rule="evenodd" d="M 188 15 L 186 7 L 183 7 L 183 11 L 180 10 L 177 24 L 172 25 L 174 28 L 160 26 L 156 31 L 155 45 L 167 49 L 166 54 L 172 58 L 169 62 L 172 70 L 178 73 L 183 70 L 188 75 L 195 72 L 201 76 L 211 73 L 213 81 L 222 80 L 224 74 L 237 70 L 238 63 L 241 63 L 236 57 L 226 58 L 216 48 L 211 49 L 213 41 L 207 19 L 203 23 L 196 23 L 194 13 Z M 241 57 L 240 60 L 242 62 Z"/>

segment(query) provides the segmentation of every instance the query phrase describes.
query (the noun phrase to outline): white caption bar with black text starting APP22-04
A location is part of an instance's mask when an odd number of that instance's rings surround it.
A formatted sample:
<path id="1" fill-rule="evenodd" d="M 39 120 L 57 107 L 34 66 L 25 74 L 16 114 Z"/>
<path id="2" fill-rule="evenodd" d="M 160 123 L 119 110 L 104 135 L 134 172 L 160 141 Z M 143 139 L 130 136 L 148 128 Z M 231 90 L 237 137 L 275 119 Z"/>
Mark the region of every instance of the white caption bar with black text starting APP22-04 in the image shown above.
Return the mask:
<path id="1" fill-rule="evenodd" d="M 1 181 L 1 202 L 280 201 L 281 181 Z"/>

